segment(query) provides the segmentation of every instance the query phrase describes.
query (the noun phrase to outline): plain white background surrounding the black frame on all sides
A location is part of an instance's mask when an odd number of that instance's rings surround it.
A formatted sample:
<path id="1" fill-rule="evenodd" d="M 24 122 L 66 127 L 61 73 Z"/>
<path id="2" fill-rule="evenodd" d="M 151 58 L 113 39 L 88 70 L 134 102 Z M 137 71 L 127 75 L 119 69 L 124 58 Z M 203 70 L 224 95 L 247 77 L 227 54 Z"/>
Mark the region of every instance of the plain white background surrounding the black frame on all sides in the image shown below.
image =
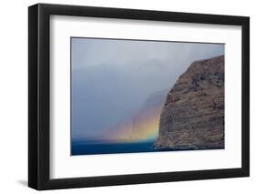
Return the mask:
<path id="1" fill-rule="evenodd" d="M 251 178 L 215 179 L 46 193 L 253 193 L 256 190 L 256 12 L 254 1 L 241 0 L 48 0 L 52 4 L 96 5 L 165 11 L 251 16 Z M 36 193 L 27 179 L 27 6 L 34 0 L 1 2 L 0 11 L 0 193 Z"/>

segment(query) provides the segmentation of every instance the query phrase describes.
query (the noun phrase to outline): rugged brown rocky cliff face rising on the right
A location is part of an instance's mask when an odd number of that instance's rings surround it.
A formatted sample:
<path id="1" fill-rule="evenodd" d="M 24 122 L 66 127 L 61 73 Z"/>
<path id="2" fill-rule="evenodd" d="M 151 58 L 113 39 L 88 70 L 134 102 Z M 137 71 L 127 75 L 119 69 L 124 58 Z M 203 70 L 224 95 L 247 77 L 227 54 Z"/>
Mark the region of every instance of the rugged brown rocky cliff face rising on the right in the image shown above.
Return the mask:
<path id="1" fill-rule="evenodd" d="M 156 148 L 224 148 L 224 56 L 195 61 L 162 108 Z"/>

